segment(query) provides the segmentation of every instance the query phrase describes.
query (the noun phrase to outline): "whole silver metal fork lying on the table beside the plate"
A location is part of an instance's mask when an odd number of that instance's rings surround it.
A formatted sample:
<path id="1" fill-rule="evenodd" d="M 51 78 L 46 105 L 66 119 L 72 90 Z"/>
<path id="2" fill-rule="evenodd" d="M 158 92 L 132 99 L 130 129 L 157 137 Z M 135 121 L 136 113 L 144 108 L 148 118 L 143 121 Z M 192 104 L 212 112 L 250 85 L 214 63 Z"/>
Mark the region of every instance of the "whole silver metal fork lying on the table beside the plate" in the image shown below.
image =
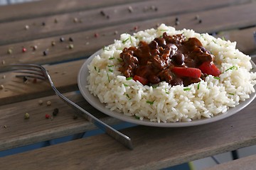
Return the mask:
<path id="1" fill-rule="evenodd" d="M 42 80 L 48 80 L 50 83 L 50 86 L 55 91 L 55 94 L 59 96 L 65 103 L 67 103 L 69 106 L 75 109 L 75 111 L 79 111 L 82 113 L 82 115 L 87 118 L 91 123 L 96 125 L 101 130 L 105 131 L 107 135 L 110 135 L 115 140 L 119 141 L 124 145 L 125 147 L 129 149 L 133 149 L 132 147 L 132 140 L 127 137 L 126 135 L 122 134 L 122 132 L 119 132 L 112 128 L 110 125 L 107 125 L 106 123 L 102 122 L 98 118 L 96 118 L 94 115 L 88 113 L 83 108 L 78 106 L 77 104 L 73 103 L 73 101 L 70 101 L 68 98 L 63 96 L 63 94 L 60 94 L 60 92 L 56 89 L 56 87 L 53 84 L 53 81 L 50 79 L 50 74 L 48 74 L 48 71 L 42 67 L 41 65 L 37 64 L 12 64 L 12 69 L 16 70 L 17 73 L 20 73 L 16 75 L 16 77 L 31 77 L 36 79 L 42 79 Z"/>

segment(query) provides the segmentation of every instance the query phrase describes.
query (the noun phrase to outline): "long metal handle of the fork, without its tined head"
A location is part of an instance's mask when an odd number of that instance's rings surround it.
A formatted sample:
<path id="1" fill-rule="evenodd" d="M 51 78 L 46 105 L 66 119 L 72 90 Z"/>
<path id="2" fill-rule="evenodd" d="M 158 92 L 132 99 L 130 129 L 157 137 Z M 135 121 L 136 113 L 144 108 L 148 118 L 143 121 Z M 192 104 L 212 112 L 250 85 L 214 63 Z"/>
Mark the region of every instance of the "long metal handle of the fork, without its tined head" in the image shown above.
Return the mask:
<path id="1" fill-rule="evenodd" d="M 55 88 L 55 86 L 52 86 L 52 87 L 53 87 L 53 90 L 55 91 L 55 94 L 57 94 L 57 96 L 63 99 L 65 103 L 67 103 L 69 106 L 74 108 L 76 111 L 79 111 L 80 113 L 82 113 L 82 115 L 84 115 L 85 118 L 87 118 L 87 120 L 89 120 L 91 123 L 96 125 L 101 130 L 105 131 L 107 135 L 110 135 L 115 140 L 122 143 L 122 145 L 124 145 L 125 147 L 129 149 L 133 149 L 132 140 L 129 137 L 127 137 L 127 135 L 122 134 L 122 132 L 119 132 L 118 130 L 115 130 L 114 128 L 112 128 L 110 125 L 107 125 L 106 123 L 102 122 L 100 119 L 96 118 L 94 115 L 85 111 L 85 109 L 81 108 L 80 106 L 75 104 L 73 101 L 70 101 L 68 98 L 63 96 L 63 94 L 60 94 L 60 92 Z"/>

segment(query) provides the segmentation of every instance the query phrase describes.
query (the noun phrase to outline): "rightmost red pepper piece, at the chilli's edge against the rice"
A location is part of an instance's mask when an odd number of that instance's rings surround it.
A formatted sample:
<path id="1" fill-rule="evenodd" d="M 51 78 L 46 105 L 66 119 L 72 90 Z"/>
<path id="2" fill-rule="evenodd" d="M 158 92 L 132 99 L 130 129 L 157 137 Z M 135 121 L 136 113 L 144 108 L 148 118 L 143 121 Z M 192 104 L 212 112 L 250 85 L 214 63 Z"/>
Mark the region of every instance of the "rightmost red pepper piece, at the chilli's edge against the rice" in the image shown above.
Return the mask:
<path id="1" fill-rule="evenodd" d="M 203 62 L 198 69 L 201 69 L 204 74 L 213 75 L 214 77 L 218 77 L 221 74 L 213 62 Z"/>

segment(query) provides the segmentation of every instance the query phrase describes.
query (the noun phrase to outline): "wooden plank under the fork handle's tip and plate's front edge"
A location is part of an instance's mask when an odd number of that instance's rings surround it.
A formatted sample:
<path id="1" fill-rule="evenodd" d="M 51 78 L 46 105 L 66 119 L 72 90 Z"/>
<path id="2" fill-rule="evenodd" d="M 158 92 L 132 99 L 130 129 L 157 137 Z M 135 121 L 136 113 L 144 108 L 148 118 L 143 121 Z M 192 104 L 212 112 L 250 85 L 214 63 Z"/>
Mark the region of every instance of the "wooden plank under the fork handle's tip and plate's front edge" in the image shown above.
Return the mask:
<path id="1" fill-rule="evenodd" d="M 97 135 L 0 158 L 4 169 L 161 169 L 256 144 L 253 101 L 239 113 L 215 123 L 187 128 L 137 126 L 122 130 L 131 151 Z M 72 157 L 70 156 L 72 155 Z"/>

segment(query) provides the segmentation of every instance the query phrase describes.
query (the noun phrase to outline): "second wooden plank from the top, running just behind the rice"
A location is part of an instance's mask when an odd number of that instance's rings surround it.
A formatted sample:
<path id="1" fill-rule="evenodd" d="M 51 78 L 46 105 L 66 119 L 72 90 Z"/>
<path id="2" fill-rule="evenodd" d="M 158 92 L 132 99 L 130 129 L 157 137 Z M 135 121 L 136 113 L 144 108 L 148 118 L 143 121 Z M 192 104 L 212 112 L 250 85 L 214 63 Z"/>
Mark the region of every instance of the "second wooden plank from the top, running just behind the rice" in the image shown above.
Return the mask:
<path id="1" fill-rule="evenodd" d="M 256 24 L 254 19 L 254 16 L 256 16 L 256 11 L 254 10 L 254 8 L 256 8 L 256 2 L 217 8 L 220 7 L 219 2 L 220 1 L 209 1 L 206 3 L 200 0 L 192 3 L 190 6 L 184 6 L 183 4 L 188 4 L 190 1 L 178 1 L 175 5 L 168 0 L 142 1 L 129 5 L 105 7 L 99 10 L 94 9 L 9 22 L 1 24 L 0 45 L 46 38 L 53 35 L 77 33 L 83 30 L 95 30 L 97 28 L 145 21 L 154 18 L 158 18 L 159 21 L 157 22 L 169 23 L 175 26 L 175 18 L 177 16 L 180 18 L 181 23 L 178 28 L 195 28 L 200 32 L 205 30 L 214 32 Z M 224 1 L 224 3 L 227 2 Z M 129 11 L 129 6 L 132 6 L 132 12 Z M 145 10 L 145 6 L 154 6 L 154 8 Z M 155 10 L 156 8 L 157 10 Z M 100 11 L 104 11 L 106 16 L 110 16 L 110 18 L 102 16 Z M 198 24 L 198 21 L 194 19 L 196 15 L 201 17 L 203 23 Z M 78 21 L 74 22 L 74 18 Z M 58 23 L 54 22 L 55 19 L 58 19 Z M 227 20 L 230 22 L 226 22 Z M 185 23 L 185 25 L 183 25 L 183 23 Z M 26 29 L 26 26 L 29 26 L 29 28 Z"/>

